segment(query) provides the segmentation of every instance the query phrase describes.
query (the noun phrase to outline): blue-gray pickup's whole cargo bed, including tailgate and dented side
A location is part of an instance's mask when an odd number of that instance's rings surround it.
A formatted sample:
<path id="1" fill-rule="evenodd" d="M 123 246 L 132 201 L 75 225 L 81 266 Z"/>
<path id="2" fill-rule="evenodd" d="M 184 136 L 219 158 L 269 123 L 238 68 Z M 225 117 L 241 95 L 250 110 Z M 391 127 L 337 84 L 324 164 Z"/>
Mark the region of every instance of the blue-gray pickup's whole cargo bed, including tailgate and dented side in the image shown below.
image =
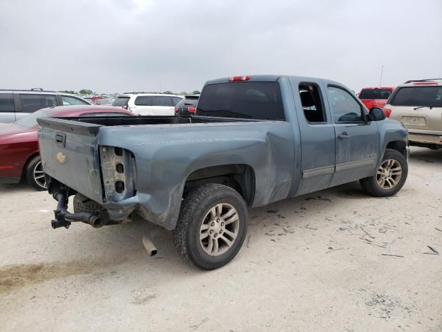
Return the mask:
<path id="1" fill-rule="evenodd" d="M 144 219 L 175 228 L 186 179 L 210 167 L 253 169 L 251 176 L 260 178 L 249 187 L 256 206 L 285 199 L 293 189 L 290 122 L 209 116 L 38 122 L 49 192 L 68 187 L 104 206 L 111 220 L 137 210 Z"/>

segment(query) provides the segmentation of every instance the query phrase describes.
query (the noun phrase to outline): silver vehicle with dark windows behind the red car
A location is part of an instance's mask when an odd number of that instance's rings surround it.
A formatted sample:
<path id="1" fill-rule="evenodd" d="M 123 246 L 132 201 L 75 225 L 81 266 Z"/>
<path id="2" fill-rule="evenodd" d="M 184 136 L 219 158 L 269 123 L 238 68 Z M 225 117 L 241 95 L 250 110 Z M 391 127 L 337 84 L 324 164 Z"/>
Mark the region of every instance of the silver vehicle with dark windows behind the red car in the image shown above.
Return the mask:
<path id="1" fill-rule="evenodd" d="M 0 123 L 9 123 L 46 107 L 61 105 L 90 105 L 91 103 L 68 93 L 31 90 L 0 90 Z"/>

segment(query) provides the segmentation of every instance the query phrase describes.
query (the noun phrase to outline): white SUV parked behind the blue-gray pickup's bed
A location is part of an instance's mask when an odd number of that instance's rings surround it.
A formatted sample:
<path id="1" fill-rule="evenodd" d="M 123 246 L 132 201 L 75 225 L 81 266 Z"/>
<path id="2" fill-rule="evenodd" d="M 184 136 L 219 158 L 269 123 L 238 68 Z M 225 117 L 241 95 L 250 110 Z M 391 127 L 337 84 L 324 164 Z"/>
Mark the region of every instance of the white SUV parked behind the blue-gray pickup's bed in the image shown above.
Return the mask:
<path id="1" fill-rule="evenodd" d="M 112 106 L 119 106 L 140 116 L 175 116 L 175 105 L 182 100 L 179 95 L 131 92 L 115 98 Z"/>

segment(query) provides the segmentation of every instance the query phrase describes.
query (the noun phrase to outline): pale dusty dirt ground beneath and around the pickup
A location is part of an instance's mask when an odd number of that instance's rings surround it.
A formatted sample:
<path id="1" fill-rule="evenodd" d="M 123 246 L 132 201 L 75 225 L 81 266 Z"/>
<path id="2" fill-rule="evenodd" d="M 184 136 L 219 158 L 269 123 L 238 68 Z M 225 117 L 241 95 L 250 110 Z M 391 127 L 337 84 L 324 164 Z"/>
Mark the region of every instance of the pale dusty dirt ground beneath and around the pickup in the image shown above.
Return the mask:
<path id="1" fill-rule="evenodd" d="M 171 232 L 148 257 L 145 223 L 52 230 L 50 195 L 0 185 L 0 330 L 442 331 L 441 187 L 442 150 L 414 148 L 396 196 L 350 183 L 250 210 L 236 259 L 204 272 Z"/>

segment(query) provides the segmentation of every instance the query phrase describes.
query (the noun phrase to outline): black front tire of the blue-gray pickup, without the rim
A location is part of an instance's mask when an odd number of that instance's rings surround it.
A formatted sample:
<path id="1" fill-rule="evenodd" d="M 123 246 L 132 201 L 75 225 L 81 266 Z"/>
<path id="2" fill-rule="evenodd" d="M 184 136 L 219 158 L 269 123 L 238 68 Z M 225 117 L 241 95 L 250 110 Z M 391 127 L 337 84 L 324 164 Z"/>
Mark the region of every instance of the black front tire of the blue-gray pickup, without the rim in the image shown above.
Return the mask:
<path id="1" fill-rule="evenodd" d="M 378 185 L 377 181 L 378 169 L 376 169 L 376 174 L 374 176 L 370 176 L 369 178 L 362 178 L 360 180 L 363 189 L 372 196 L 376 197 L 393 196 L 399 190 L 402 189 L 403 185 L 405 184 L 405 181 L 407 180 L 408 165 L 405 156 L 403 156 L 403 154 L 401 154 L 401 152 L 399 151 L 393 149 L 386 149 L 381 165 L 383 165 L 385 160 L 389 159 L 396 160 L 399 163 L 399 165 L 401 165 L 401 171 L 402 171 L 401 178 L 398 180 L 397 184 L 394 185 L 394 187 L 392 187 L 391 189 L 383 189 L 382 187 L 380 187 L 380 185 Z"/>

